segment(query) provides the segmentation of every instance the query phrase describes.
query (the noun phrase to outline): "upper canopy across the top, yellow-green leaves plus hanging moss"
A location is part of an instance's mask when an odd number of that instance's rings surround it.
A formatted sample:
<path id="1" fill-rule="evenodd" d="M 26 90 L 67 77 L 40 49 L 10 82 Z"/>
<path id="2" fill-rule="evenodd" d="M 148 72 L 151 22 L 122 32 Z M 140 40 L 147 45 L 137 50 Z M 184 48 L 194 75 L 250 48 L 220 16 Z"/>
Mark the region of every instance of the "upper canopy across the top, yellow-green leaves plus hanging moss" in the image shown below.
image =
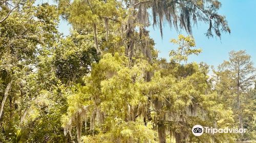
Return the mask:
<path id="1" fill-rule="evenodd" d="M 82 30 L 89 28 L 93 30 L 95 47 L 101 50 L 98 44 L 96 27 L 105 28 L 106 35 L 117 35 L 121 38 L 119 47 L 124 46 L 126 55 L 136 57 L 136 51 L 143 51 L 145 57 L 151 57 L 150 44 L 143 41 L 143 37 L 149 37 L 146 27 L 151 21 L 148 16 L 148 9 L 152 9 L 153 25 L 159 26 L 162 36 L 164 21 L 169 26 L 174 26 L 177 31 L 184 29 L 191 34 L 191 25 L 197 21 L 209 23 L 206 33 L 212 37 L 214 33 L 220 37 L 221 32 L 229 32 L 230 29 L 224 16 L 217 13 L 221 3 L 218 1 L 58 1 L 59 9 L 75 29 Z M 82 11 L 81 11 L 82 9 Z M 104 23 L 104 25 L 102 24 Z M 139 32 L 136 31 L 139 29 Z M 108 36 L 106 36 L 105 39 Z M 147 41 L 147 40 L 146 40 Z M 142 44 L 137 44 L 142 43 Z M 145 49 L 145 50 L 143 50 Z"/>

